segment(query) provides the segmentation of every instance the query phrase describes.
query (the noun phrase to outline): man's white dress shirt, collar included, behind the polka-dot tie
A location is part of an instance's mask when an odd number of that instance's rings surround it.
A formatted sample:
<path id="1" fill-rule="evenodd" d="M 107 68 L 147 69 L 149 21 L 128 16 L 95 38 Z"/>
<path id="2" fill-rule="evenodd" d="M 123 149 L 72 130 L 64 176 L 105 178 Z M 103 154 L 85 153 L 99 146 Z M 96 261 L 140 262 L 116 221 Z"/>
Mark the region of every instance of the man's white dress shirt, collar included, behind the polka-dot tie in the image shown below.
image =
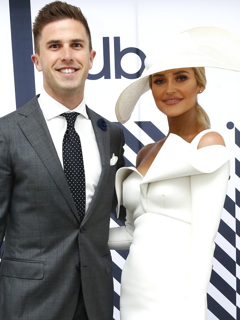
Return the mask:
<path id="1" fill-rule="evenodd" d="M 83 98 L 82 102 L 75 109 L 69 110 L 43 90 L 38 98 L 38 103 L 43 112 L 62 167 L 62 140 L 67 129 L 67 120 L 65 117 L 60 116 L 60 114 L 64 112 L 80 113 L 76 118 L 75 130 L 80 137 L 83 152 L 86 212 L 98 184 L 102 164 L 92 123 L 86 112 L 85 98 Z"/>

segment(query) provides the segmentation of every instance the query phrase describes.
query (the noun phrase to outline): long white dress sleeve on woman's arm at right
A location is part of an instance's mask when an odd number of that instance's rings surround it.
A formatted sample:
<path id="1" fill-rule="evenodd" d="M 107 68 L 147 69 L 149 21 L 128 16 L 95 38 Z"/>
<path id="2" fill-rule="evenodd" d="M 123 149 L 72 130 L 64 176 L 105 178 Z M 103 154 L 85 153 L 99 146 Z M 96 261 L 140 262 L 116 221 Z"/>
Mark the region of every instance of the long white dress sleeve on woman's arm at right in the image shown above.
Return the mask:
<path id="1" fill-rule="evenodd" d="M 214 239 L 228 186 L 230 164 L 224 161 L 216 171 L 190 177 L 192 221 L 185 320 L 206 319 L 206 292 L 212 272 Z"/>

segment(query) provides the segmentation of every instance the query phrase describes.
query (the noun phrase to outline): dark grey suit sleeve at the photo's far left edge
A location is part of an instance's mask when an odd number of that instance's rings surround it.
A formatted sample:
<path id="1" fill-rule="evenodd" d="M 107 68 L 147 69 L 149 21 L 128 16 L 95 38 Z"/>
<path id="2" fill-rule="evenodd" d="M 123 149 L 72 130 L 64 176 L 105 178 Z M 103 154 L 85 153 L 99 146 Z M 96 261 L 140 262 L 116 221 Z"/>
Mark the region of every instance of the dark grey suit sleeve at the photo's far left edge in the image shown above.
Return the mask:
<path id="1" fill-rule="evenodd" d="M 12 165 L 7 142 L 0 131 L 0 247 L 3 243 L 12 196 Z"/>

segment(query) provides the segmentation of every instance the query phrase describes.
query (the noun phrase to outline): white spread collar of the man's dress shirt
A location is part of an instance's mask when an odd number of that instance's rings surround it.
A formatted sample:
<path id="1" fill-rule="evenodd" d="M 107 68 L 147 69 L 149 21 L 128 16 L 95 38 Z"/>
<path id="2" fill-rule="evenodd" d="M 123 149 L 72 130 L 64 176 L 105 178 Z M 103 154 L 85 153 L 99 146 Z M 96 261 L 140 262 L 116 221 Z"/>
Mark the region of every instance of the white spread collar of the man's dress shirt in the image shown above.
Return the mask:
<path id="1" fill-rule="evenodd" d="M 55 118 L 56 116 L 59 116 L 64 112 L 78 112 L 82 116 L 84 116 L 84 118 L 89 119 L 86 111 L 85 97 L 83 97 L 83 100 L 81 101 L 81 103 L 73 110 L 69 110 L 68 108 L 63 106 L 60 102 L 53 99 L 44 89 L 40 93 L 40 96 L 38 97 L 37 100 L 47 120 Z"/>

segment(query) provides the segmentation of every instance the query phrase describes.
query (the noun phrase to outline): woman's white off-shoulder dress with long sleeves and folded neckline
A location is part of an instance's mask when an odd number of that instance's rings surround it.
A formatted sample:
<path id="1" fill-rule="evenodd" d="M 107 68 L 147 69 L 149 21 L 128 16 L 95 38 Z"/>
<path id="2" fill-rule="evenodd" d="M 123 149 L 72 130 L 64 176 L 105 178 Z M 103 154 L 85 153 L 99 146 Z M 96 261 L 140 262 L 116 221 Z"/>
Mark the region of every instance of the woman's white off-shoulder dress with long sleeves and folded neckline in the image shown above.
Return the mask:
<path id="1" fill-rule="evenodd" d="M 127 216 L 109 248 L 130 248 L 121 279 L 121 320 L 205 320 L 206 293 L 229 177 L 226 148 L 197 149 L 170 133 L 148 172 L 116 173 Z"/>

